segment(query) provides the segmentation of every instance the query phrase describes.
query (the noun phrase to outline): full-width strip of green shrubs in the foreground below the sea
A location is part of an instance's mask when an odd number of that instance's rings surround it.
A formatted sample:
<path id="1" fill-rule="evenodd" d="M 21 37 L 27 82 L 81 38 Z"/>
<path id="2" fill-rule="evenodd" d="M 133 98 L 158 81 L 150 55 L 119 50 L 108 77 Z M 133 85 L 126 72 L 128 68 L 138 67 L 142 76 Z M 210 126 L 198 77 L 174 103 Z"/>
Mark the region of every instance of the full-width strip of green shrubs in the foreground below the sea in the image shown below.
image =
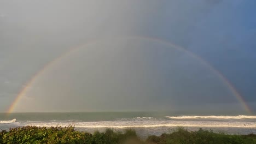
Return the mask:
<path id="1" fill-rule="evenodd" d="M 22 127 L 11 128 L 9 131 L 0 132 L 0 143 L 124 143 L 124 144 L 162 144 L 162 143 L 256 143 L 256 135 L 228 135 L 213 133 L 199 129 L 188 131 L 179 128 L 171 134 L 161 136 L 149 136 L 142 141 L 136 135 L 135 130 L 127 129 L 124 133 L 106 129 L 104 133 L 95 131 L 94 134 L 76 131 L 71 125 L 68 127 Z"/>

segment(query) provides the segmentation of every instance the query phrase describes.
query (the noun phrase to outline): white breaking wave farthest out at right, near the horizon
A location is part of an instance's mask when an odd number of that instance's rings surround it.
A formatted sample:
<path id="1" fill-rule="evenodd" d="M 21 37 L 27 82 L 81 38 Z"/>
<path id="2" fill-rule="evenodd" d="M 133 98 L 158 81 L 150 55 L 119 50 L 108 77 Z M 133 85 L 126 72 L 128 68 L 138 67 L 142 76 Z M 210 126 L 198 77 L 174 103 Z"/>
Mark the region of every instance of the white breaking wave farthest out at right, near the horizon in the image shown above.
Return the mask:
<path id="1" fill-rule="evenodd" d="M 214 119 L 256 119 L 256 116 L 245 116 L 245 115 L 238 115 L 238 116 L 177 116 L 177 117 L 171 117 L 166 116 L 167 118 L 172 119 L 196 119 L 196 118 L 214 118 Z"/>

